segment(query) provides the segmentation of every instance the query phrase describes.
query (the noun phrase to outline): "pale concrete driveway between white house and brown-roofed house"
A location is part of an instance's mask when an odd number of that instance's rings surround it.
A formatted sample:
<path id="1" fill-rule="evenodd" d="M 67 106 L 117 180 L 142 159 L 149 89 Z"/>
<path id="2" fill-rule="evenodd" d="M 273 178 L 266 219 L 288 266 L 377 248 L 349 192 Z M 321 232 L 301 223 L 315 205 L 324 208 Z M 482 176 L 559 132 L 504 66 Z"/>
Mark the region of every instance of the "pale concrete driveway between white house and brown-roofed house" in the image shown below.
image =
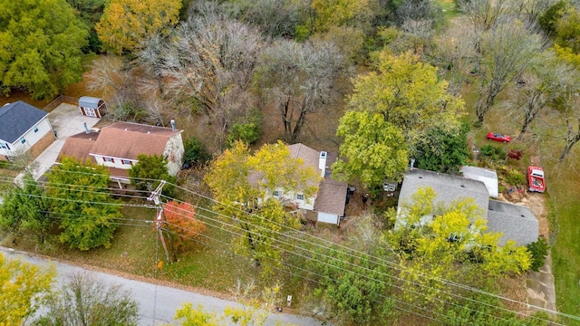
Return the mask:
<path id="1" fill-rule="evenodd" d="M 53 129 L 56 131 L 56 139 L 51 146 L 44 149 L 43 153 L 28 166 L 28 170 L 33 175 L 34 180 L 38 180 L 43 176 L 44 172 L 53 166 L 58 153 L 63 149 L 64 140 L 67 137 L 83 132 L 84 123 L 90 129 L 100 119 L 83 116 L 76 105 L 63 103 L 48 113 L 48 120 L 51 121 Z M 24 173 L 18 175 L 15 181 L 22 184 L 20 182 L 22 177 L 24 177 Z"/>

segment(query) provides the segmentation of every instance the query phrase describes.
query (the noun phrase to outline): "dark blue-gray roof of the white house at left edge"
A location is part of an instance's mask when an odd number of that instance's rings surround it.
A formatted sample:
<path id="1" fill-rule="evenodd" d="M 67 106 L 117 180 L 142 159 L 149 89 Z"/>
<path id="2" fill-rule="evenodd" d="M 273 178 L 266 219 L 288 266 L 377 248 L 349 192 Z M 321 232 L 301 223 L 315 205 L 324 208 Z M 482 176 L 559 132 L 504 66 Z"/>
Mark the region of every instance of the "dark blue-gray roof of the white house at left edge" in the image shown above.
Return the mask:
<path id="1" fill-rule="evenodd" d="M 6 104 L 0 108 L 0 139 L 14 143 L 47 115 L 24 101 Z"/>

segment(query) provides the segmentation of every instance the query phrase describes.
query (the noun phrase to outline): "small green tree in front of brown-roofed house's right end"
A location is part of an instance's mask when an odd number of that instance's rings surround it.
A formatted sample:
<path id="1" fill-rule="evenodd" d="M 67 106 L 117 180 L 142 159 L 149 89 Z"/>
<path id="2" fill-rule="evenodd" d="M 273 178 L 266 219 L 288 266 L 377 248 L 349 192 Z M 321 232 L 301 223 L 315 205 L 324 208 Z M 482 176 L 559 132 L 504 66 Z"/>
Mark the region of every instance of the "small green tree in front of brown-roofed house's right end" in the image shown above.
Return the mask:
<path id="1" fill-rule="evenodd" d="M 153 156 L 140 154 L 137 159 L 139 161 L 129 170 L 131 185 L 137 187 L 137 189 L 152 191 L 159 186 L 160 180 L 175 183 L 175 177 L 169 175 L 167 159 L 157 154 Z M 165 185 L 163 187 L 163 195 L 175 197 L 175 187 Z"/>

